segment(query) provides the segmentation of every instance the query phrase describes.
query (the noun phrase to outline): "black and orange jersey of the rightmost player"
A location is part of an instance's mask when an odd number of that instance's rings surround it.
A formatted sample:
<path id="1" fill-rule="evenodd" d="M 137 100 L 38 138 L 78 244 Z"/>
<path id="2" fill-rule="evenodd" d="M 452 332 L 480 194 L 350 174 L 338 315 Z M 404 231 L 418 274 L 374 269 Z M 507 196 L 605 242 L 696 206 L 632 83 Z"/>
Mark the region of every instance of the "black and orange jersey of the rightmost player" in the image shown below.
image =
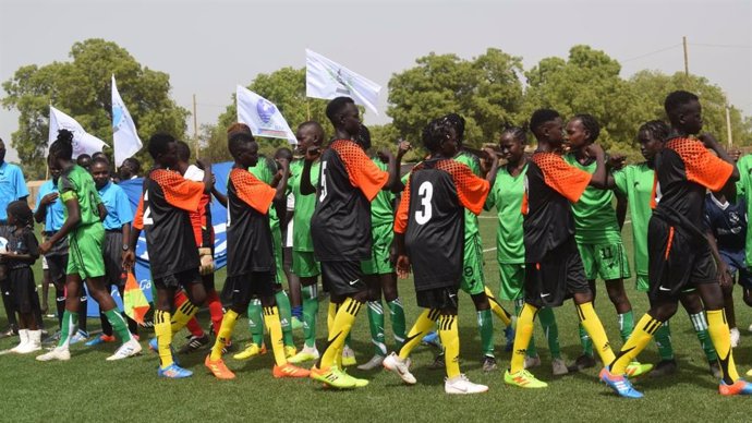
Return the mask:
<path id="1" fill-rule="evenodd" d="M 733 165 L 713 155 L 700 141 L 671 138 L 656 157 L 656 210 L 681 216 L 702 229 L 706 190 L 719 191 L 732 172 Z"/>

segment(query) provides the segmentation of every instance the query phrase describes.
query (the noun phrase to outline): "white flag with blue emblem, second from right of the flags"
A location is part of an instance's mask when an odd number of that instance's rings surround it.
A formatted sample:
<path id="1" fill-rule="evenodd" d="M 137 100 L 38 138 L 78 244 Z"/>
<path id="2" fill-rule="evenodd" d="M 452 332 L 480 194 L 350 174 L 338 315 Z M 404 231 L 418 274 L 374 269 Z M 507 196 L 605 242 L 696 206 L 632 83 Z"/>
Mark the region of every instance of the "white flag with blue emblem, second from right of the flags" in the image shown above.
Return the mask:
<path id="1" fill-rule="evenodd" d="M 238 122 L 251 126 L 251 133 L 256 136 L 284 138 L 290 144 L 298 144 L 295 134 L 271 101 L 240 85 L 235 90 L 235 101 Z"/>

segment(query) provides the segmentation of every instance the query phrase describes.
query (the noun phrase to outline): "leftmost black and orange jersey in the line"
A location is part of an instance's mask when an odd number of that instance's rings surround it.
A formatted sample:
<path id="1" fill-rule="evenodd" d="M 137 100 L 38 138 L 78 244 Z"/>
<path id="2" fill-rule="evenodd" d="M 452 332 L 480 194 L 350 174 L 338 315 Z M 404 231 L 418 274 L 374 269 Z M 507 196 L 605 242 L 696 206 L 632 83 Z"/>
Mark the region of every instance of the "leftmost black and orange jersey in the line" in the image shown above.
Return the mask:
<path id="1" fill-rule="evenodd" d="M 151 278 L 198 268 L 189 214 L 198 208 L 203 194 L 204 183 L 171 170 L 153 169 L 144 178 L 133 227 L 146 231 Z"/>

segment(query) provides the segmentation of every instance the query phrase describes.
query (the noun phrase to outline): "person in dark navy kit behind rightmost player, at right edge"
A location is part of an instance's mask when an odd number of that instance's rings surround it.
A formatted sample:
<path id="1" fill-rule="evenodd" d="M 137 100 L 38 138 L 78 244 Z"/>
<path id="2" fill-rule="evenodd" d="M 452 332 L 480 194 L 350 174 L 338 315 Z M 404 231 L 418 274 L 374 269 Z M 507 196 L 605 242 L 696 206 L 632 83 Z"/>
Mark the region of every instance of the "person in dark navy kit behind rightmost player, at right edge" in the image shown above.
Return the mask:
<path id="1" fill-rule="evenodd" d="M 747 243 L 747 203 L 744 197 L 737 196 L 736 186 L 728 190 L 708 193 L 705 197 L 705 225 L 711 242 L 715 241 L 719 257 L 718 273 L 724 291 L 726 319 L 731 335 L 731 347 L 739 345 L 739 329 L 733 311 L 733 282 L 738 276 L 739 285 L 744 290 L 744 303 L 752 306 L 752 273 L 744 261 Z"/>

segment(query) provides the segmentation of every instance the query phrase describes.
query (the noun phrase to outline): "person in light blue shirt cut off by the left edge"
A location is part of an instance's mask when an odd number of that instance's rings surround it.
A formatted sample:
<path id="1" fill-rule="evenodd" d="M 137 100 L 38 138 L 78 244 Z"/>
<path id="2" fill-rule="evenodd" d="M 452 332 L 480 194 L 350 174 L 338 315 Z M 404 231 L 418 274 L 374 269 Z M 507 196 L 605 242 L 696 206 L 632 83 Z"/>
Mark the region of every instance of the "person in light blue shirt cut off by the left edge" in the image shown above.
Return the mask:
<path id="1" fill-rule="evenodd" d="M 5 143 L 0 140 L 0 237 L 5 240 L 9 240 L 13 233 L 13 227 L 8 225 L 8 205 L 17 200 L 26 200 L 27 196 L 28 190 L 24 173 L 20 167 L 5 161 Z M 11 289 L 5 265 L 0 266 L 0 290 L 2 291 L 2 305 L 5 309 L 9 324 L 9 327 L 0 333 L 0 338 L 16 336 L 19 335 L 19 322 L 15 318 L 13 299 L 10 297 Z"/>

